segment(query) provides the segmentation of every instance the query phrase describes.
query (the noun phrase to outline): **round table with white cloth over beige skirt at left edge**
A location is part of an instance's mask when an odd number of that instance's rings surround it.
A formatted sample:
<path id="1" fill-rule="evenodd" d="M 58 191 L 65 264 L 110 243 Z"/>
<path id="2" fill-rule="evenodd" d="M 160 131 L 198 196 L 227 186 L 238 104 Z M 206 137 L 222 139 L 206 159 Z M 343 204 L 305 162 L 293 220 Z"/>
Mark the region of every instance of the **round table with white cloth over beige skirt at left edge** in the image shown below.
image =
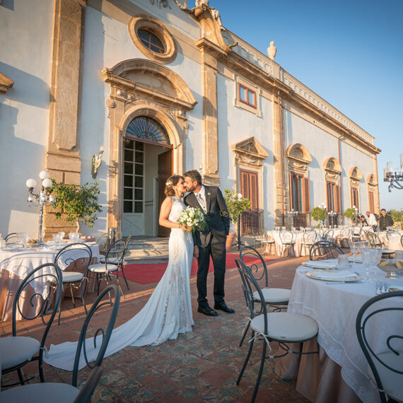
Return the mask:
<path id="1" fill-rule="evenodd" d="M 95 262 L 95 259 L 99 259 L 100 257 L 98 244 L 88 243 L 87 245 L 91 249 L 93 262 Z M 53 263 L 57 252 L 64 246 L 66 246 L 66 243 L 54 245 L 52 248 L 25 247 L 13 250 L 0 250 L 0 317 L 2 321 L 11 320 L 13 300 L 21 281 L 41 264 Z M 81 257 L 79 250 L 69 253 L 71 254 L 71 259 L 79 259 Z M 66 267 L 61 267 L 61 269 L 64 270 Z M 50 269 L 44 269 L 44 274 L 46 274 L 46 270 Z M 28 291 L 26 291 L 24 296 L 27 301 L 23 306 L 24 315 L 33 314 L 35 307 L 32 308 L 29 304 L 30 296 L 34 293 L 43 293 L 45 288 L 47 288 L 47 282 L 46 276 L 41 277 L 33 281 L 32 288 L 28 287 Z M 16 317 L 17 320 L 22 319 L 19 313 L 17 313 Z"/>

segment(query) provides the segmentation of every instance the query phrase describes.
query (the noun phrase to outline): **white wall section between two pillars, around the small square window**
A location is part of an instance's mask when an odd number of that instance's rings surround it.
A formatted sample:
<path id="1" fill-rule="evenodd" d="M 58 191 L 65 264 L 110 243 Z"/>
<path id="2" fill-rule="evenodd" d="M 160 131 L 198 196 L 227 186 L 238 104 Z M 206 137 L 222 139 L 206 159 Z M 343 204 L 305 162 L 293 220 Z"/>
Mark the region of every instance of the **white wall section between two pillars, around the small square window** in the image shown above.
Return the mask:
<path id="1" fill-rule="evenodd" d="M 235 81 L 218 74 L 218 168 L 221 189 L 234 189 L 236 172 L 235 157 L 231 146 L 239 141 L 255 136 L 269 153 L 263 161 L 263 206 L 264 226 L 271 228 L 274 223 L 273 136 L 271 101 L 260 96 L 261 116 L 234 106 Z M 239 184 L 238 184 L 239 186 Z M 238 191 L 240 189 L 237 189 Z"/>

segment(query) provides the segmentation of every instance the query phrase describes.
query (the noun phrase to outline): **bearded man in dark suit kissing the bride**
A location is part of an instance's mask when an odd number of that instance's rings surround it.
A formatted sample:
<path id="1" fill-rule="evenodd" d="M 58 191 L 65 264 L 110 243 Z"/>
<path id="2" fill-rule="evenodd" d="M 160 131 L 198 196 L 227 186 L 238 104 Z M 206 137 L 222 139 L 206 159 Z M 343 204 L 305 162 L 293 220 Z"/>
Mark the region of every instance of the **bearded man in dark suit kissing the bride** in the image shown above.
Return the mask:
<path id="1" fill-rule="evenodd" d="M 216 186 L 204 186 L 202 175 L 197 170 L 185 172 L 185 189 L 190 192 L 185 197 L 187 206 L 203 209 L 207 214 L 209 230 L 193 233 L 194 245 L 199 247 L 197 259 L 197 311 L 204 315 L 218 316 L 215 310 L 235 313 L 224 301 L 224 277 L 226 275 L 226 235 L 230 229 L 230 216 L 221 190 Z M 207 274 L 210 255 L 214 264 L 214 309 L 207 301 Z"/>

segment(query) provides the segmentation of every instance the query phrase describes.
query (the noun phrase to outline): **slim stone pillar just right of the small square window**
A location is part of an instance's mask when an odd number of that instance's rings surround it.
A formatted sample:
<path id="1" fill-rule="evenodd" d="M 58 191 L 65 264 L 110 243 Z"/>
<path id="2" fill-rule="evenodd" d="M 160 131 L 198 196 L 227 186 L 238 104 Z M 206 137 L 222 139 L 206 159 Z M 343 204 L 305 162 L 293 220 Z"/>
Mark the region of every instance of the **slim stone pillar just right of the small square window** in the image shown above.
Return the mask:
<path id="1" fill-rule="evenodd" d="M 288 194 L 284 183 L 284 136 L 282 129 L 281 97 L 279 92 L 273 93 L 272 101 L 275 224 L 276 226 L 283 226 L 284 212 L 288 209 Z"/>

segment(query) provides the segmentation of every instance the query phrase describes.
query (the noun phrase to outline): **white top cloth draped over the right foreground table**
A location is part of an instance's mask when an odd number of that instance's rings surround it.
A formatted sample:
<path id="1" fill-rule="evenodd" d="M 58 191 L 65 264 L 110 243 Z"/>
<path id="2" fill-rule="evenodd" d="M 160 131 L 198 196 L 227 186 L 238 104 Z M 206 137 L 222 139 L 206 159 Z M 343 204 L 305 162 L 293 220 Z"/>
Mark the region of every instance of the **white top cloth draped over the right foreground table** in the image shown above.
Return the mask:
<path id="1" fill-rule="evenodd" d="M 355 264 L 353 269 L 363 278 L 366 277 L 362 264 Z M 313 317 L 319 325 L 317 341 L 327 356 L 341 367 L 344 382 L 363 402 L 379 402 L 378 391 L 369 380 L 367 361 L 356 337 L 356 316 L 363 303 L 375 296 L 374 282 L 327 284 L 326 281 L 308 278 L 306 272 L 310 270 L 313 269 L 297 269 L 288 312 Z M 371 274 L 370 277 L 372 281 L 387 281 L 391 285 L 403 286 L 402 276 L 388 280 L 385 275 L 384 271 L 377 269 L 377 274 Z M 401 303 L 403 306 L 403 299 Z M 372 335 L 378 346 L 385 344 L 383 329 L 390 326 L 393 326 L 395 334 L 403 334 L 403 321 L 392 321 L 384 315 L 378 323 L 377 334 Z"/>

